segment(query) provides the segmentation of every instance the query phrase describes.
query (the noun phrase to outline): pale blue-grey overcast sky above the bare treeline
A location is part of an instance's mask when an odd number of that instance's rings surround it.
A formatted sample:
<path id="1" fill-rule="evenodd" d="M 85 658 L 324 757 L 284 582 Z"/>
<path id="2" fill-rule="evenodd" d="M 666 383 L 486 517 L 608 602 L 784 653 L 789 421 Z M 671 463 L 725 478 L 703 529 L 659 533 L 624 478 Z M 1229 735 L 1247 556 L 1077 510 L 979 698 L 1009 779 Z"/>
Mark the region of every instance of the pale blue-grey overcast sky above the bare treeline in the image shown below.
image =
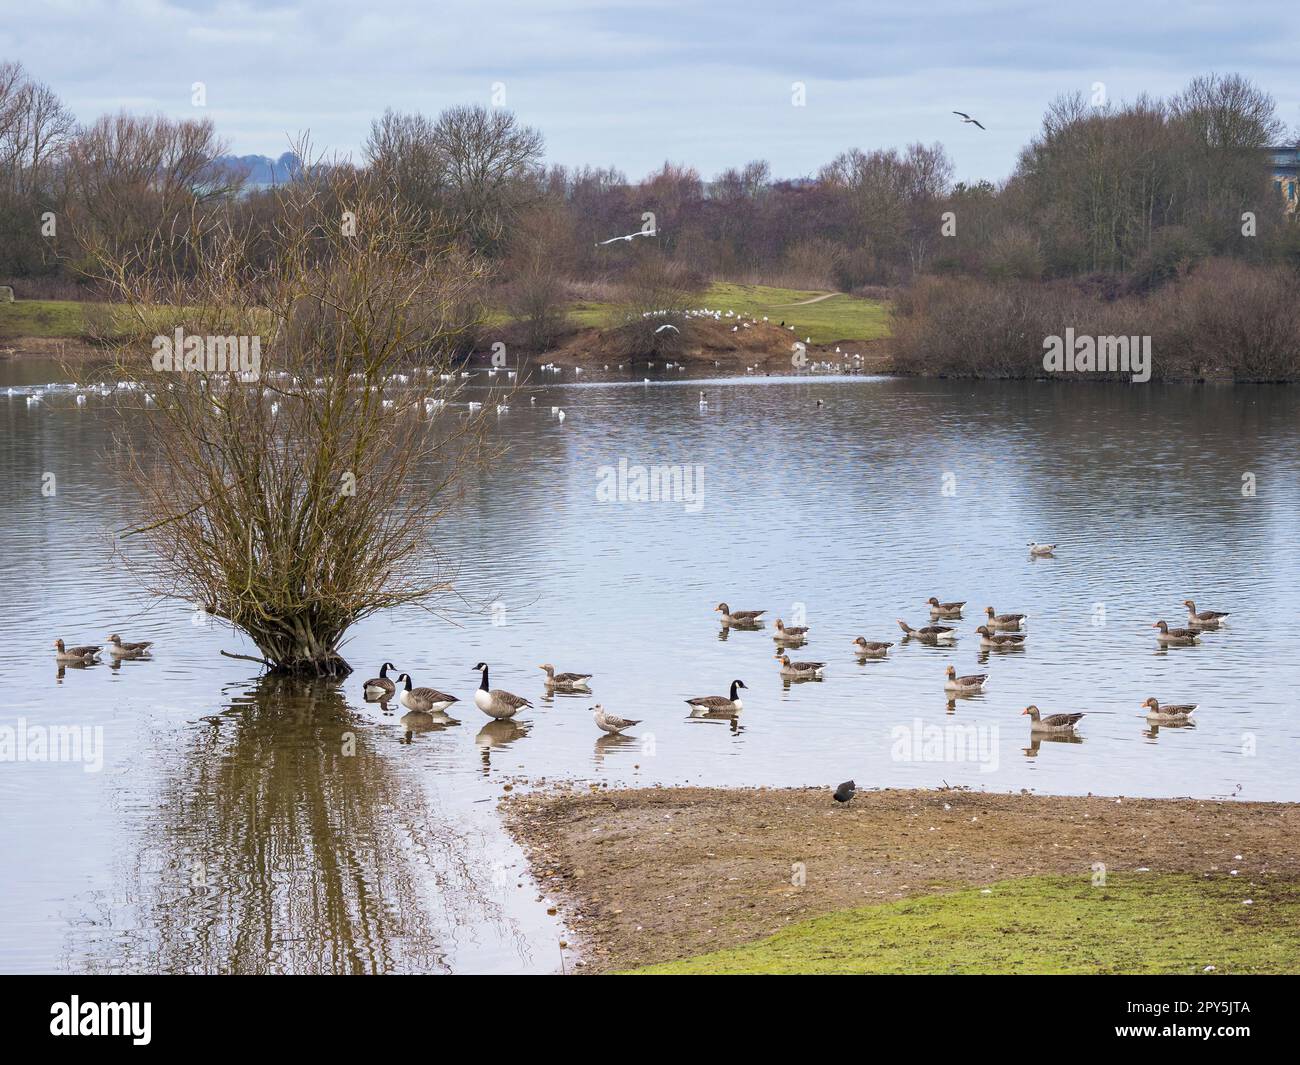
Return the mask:
<path id="1" fill-rule="evenodd" d="M 79 118 L 194 114 L 199 81 L 239 155 L 277 156 L 302 130 L 359 155 L 386 107 L 491 103 L 497 82 L 549 161 L 632 178 L 666 159 L 800 177 L 849 147 L 941 140 L 959 179 L 996 181 L 1053 96 L 1167 95 L 1210 70 L 1256 79 L 1300 125 L 1296 0 L 4 0 L 0 14 L 0 59 Z"/>

